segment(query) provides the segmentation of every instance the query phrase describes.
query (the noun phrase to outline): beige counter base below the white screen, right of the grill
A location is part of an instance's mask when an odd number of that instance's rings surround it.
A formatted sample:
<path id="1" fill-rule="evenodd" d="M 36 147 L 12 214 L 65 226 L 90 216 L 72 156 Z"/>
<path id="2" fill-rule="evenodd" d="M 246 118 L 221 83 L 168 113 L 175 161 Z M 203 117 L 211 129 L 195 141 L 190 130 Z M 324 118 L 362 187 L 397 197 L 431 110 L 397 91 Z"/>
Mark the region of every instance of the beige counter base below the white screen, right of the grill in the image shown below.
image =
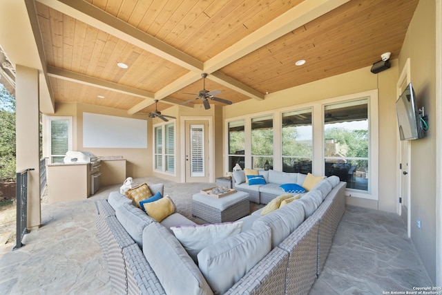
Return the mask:
<path id="1" fill-rule="evenodd" d="M 101 185 L 123 184 L 126 180 L 126 159 L 119 155 L 99 157 Z"/>

